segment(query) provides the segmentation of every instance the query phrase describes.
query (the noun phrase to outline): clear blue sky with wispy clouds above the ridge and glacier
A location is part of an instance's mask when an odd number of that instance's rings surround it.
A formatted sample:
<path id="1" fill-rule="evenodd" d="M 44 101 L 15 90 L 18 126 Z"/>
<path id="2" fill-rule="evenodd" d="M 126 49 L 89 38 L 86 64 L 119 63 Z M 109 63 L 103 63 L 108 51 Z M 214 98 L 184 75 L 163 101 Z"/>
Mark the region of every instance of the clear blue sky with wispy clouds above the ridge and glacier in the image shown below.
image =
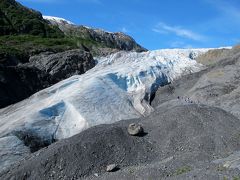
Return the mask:
<path id="1" fill-rule="evenodd" d="M 18 0 L 43 15 L 122 31 L 147 49 L 240 43 L 240 0 Z"/>

